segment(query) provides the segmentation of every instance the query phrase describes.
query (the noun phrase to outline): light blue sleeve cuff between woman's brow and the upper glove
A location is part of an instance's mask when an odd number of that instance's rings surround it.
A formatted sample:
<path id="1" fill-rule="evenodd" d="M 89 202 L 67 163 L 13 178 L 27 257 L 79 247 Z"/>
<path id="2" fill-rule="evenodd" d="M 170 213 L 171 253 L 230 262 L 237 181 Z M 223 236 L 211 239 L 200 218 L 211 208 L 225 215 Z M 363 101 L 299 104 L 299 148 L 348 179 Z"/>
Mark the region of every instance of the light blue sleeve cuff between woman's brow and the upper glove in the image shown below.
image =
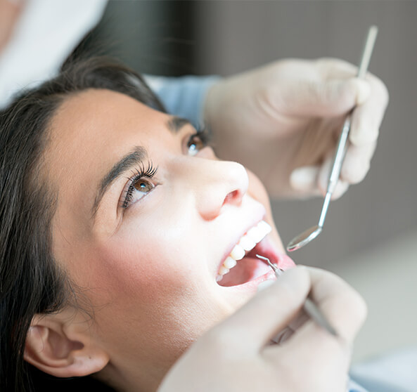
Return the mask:
<path id="1" fill-rule="evenodd" d="M 198 128 L 203 124 L 207 91 L 219 77 L 154 77 L 145 75 L 145 79 L 165 105 L 167 112 L 190 120 Z"/>

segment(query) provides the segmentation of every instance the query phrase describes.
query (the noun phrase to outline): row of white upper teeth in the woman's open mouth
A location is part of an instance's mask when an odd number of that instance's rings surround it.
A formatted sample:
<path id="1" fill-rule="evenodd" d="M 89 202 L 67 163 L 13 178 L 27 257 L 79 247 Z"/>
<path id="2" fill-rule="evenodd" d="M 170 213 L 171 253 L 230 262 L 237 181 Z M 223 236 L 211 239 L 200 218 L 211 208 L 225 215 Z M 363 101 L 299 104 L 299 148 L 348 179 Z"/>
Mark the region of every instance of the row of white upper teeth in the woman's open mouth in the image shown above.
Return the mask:
<path id="1" fill-rule="evenodd" d="M 271 233 L 271 230 L 271 226 L 265 221 L 260 221 L 257 226 L 250 228 L 248 233 L 243 235 L 239 242 L 231 249 L 229 256 L 226 257 L 226 260 L 220 266 L 219 274 L 216 278 L 217 282 L 222 280 L 223 275 L 236 266 L 236 261 L 245 257 L 247 251 L 251 251 L 258 242 L 261 242 L 267 234 Z"/>

